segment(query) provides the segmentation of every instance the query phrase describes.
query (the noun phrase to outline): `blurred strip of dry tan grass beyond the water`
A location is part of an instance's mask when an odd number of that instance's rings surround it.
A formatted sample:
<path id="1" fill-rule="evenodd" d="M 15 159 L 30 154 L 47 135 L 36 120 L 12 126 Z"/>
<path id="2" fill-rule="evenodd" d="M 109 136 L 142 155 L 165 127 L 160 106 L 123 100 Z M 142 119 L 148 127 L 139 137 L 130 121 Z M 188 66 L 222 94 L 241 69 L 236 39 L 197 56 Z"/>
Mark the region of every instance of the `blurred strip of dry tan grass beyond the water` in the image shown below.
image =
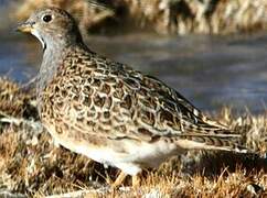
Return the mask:
<path id="1" fill-rule="evenodd" d="M 25 0 L 19 2 L 19 6 L 14 6 L 17 19 L 25 19 L 36 8 L 53 4 L 74 14 L 84 32 L 106 30 L 120 33 L 126 26 L 130 31 L 136 26 L 162 34 L 228 34 L 267 29 L 267 1 L 265 0 Z M 106 4 L 103 7 L 92 2 Z M 117 25 L 114 26 L 114 24 Z"/>

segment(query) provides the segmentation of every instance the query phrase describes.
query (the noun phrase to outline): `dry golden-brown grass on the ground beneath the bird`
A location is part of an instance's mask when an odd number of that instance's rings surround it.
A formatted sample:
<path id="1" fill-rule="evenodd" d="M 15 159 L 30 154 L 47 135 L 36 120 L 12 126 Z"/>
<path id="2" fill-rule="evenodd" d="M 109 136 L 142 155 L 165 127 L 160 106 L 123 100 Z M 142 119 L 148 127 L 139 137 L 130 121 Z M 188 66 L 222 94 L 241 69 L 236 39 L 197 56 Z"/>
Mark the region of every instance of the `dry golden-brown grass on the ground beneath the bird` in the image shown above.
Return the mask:
<path id="1" fill-rule="evenodd" d="M 1 189 L 31 197 L 66 193 L 77 197 L 81 191 L 84 197 L 267 196 L 266 114 L 234 117 L 225 108 L 215 116 L 242 133 L 243 144 L 254 154 L 192 151 L 145 173 L 139 188 L 111 190 L 106 179 L 116 178 L 116 168 L 105 169 L 82 155 L 55 147 L 33 107 L 23 106 L 24 98 L 31 99 L 31 95 L 7 79 L 1 79 L 0 90 L 0 196 Z M 25 109 L 28 114 L 33 112 L 32 117 L 22 113 Z"/>

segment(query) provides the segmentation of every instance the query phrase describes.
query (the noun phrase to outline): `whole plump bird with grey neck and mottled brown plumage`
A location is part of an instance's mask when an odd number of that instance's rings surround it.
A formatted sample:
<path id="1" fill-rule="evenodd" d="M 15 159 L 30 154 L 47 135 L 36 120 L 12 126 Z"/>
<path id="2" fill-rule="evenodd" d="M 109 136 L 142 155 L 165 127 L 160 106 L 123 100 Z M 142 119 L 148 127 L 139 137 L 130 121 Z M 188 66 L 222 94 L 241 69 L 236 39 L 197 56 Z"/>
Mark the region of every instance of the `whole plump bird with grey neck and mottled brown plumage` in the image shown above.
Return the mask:
<path id="1" fill-rule="evenodd" d="M 190 148 L 237 148 L 238 135 L 174 89 L 89 51 L 65 11 L 41 9 L 20 30 L 43 44 L 40 117 L 71 151 L 135 176 Z"/>

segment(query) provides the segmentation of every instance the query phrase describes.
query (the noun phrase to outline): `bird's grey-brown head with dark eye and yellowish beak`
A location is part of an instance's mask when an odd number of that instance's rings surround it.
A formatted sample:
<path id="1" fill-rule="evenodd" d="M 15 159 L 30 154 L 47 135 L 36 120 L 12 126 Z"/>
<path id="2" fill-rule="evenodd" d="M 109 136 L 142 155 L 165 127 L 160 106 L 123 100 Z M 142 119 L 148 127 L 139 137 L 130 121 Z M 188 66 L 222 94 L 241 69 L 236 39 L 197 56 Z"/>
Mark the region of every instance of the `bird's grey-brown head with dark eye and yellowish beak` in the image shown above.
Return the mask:
<path id="1" fill-rule="evenodd" d="M 36 36 L 43 48 L 52 44 L 70 45 L 82 42 L 73 16 L 58 8 L 43 8 L 33 12 L 18 26 L 18 31 Z"/>

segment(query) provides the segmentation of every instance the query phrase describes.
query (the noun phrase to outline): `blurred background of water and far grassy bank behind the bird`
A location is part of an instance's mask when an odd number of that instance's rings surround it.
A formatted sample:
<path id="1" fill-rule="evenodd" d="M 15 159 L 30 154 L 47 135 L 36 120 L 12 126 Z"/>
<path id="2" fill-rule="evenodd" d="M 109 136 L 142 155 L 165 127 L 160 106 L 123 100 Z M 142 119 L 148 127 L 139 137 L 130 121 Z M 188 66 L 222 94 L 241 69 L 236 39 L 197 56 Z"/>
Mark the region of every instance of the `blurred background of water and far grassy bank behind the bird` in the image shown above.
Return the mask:
<path id="1" fill-rule="evenodd" d="M 41 44 L 14 28 L 44 6 L 71 12 L 93 51 L 160 78 L 202 110 L 266 110 L 266 0 L 0 0 L 1 76 L 36 75 Z"/>

